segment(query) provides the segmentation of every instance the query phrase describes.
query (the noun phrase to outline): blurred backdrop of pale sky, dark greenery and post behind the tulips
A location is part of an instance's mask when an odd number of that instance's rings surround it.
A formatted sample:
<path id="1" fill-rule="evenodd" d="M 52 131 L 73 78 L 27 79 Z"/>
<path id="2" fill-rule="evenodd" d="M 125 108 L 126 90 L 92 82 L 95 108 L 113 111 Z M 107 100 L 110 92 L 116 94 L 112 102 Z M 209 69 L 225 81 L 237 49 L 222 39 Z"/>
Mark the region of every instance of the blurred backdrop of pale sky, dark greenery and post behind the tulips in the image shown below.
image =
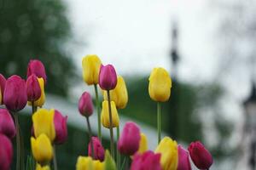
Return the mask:
<path id="1" fill-rule="evenodd" d="M 171 99 L 163 105 L 165 135 L 184 147 L 201 140 L 214 156 L 212 169 L 251 170 L 255 14 L 253 0 L 0 0 L 0 73 L 26 78 L 30 59 L 44 63 L 44 107 L 68 116 L 69 138 L 57 147 L 60 169 L 74 169 L 77 156 L 87 155 L 87 127 L 77 103 L 84 90 L 94 93 L 83 82 L 81 60 L 97 54 L 125 77 L 129 103 L 119 111 L 121 127 L 127 120 L 140 124 L 151 150 L 156 105 L 148 96 L 148 76 L 162 66 L 173 81 Z M 29 112 L 20 113 L 27 154 Z M 108 131 L 103 136 L 108 147 Z"/>

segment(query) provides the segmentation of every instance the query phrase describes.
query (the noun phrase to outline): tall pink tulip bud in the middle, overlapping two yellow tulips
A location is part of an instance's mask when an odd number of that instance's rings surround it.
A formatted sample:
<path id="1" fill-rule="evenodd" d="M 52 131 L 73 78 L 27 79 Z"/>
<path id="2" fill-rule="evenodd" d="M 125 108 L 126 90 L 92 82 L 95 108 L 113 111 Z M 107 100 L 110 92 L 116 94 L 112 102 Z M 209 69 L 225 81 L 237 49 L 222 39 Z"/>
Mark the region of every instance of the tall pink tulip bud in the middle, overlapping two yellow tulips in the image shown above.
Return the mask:
<path id="1" fill-rule="evenodd" d="M 112 90 L 116 87 L 117 76 L 113 65 L 101 65 L 99 85 L 103 90 Z"/>

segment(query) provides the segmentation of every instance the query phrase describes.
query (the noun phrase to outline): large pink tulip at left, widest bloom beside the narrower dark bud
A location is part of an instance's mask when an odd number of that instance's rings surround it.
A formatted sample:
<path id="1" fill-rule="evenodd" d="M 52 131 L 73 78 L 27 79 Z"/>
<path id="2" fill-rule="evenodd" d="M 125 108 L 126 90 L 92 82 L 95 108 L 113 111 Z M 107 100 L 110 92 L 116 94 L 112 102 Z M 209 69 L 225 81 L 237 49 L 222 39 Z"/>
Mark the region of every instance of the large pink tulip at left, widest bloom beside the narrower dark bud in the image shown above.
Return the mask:
<path id="1" fill-rule="evenodd" d="M 4 105 L 9 111 L 20 111 L 26 106 L 26 83 L 19 76 L 9 77 L 3 93 Z"/>

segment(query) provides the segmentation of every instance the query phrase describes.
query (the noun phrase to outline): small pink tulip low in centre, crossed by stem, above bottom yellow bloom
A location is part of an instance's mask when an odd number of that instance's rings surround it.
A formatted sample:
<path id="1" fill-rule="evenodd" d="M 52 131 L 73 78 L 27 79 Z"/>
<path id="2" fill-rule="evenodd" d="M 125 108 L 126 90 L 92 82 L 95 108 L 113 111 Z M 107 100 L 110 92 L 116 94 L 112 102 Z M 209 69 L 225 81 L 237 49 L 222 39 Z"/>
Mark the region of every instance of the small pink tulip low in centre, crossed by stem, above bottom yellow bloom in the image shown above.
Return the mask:
<path id="1" fill-rule="evenodd" d="M 104 161 L 105 150 L 101 141 L 97 137 L 92 137 L 91 139 L 93 143 L 94 159 Z M 92 156 L 90 144 L 91 142 L 88 144 L 88 156 Z"/>

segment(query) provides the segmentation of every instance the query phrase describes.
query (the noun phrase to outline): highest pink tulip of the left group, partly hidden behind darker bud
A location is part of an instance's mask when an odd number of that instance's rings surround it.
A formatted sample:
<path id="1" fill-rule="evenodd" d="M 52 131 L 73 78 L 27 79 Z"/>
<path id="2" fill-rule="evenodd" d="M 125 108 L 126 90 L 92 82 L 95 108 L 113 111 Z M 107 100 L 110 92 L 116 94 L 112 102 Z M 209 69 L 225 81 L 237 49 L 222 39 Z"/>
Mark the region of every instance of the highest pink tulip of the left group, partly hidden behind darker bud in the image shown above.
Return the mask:
<path id="1" fill-rule="evenodd" d="M 38 59 L 31 59 L 27 65 L 26 77 L 30 77 L 35 74 L 38 78 L 43 78 L 44 83 L 46 83 L 46 74 L 44 69 L 44 64 Z"/>

